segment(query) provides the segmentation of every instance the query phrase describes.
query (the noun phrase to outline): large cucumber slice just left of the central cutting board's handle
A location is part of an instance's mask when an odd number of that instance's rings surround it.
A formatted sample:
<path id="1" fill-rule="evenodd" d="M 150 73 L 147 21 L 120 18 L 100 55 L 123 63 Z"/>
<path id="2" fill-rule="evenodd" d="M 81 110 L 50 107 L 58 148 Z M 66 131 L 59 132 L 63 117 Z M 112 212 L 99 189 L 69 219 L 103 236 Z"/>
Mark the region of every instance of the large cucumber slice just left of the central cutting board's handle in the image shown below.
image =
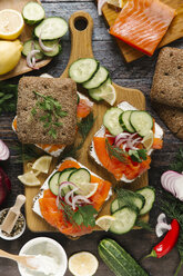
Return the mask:
<path id="1" fill-rule="evenodd" d="M 34 28 L 34 36 L 42 40 L 53 40 L 63 37 L 68 31 L 68 23 L 63 18 L 45 18 Z"/>

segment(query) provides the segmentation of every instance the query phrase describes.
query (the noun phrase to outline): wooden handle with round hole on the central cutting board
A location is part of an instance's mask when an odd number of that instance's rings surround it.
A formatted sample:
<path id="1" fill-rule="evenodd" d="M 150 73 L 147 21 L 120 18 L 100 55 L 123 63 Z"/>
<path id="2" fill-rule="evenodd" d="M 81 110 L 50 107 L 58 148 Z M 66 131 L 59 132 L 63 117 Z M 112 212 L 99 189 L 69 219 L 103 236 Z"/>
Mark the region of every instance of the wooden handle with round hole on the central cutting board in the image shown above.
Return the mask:
<path id="1" fill-rule="evenodd" d="M 61 78 L 68 77 L 70 65 L 80 58 L 93 58 L 92 31 L 93 19 L 85 11 L 74 12 L 69 20 L 71 31 L 71 55 Z"/>

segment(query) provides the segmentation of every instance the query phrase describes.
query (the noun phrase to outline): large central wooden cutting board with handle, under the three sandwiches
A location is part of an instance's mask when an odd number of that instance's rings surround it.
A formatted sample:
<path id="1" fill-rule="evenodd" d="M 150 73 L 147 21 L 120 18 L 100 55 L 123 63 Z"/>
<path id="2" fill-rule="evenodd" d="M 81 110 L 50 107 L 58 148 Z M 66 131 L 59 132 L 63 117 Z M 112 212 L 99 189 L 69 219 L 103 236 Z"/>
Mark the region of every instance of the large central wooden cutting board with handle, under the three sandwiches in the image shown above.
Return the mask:
<path id="1" fill-rule="evenodd" d="M 77 22 L 79 26 L 82 22 L 87 22 L 87 28 L 84 30 L 77 30 L 74 23 Z M 69 63 L 62 73 L 61 78 L 68 77 L 68 68 L 69 66 L 75 61 L 79 58 L 93 58 L 93 51 L 92 51 L 92 30 L 93 30 L 93 20 L 90 17 L 89 13 L 84 11 L 78 11 L 73 13 L 70 18 L 70 31 L 71 31 L 71 55 Z M 115 83 L 113 86 L 116 89 L 116 103 L 121 101 L 129 101 L 131 105 L 136 107 L 138 109 L 145 109 L 145 98 L 143 93 L 140 90 L 136 89 L 129 89 L 124 87 L 120 87 Z M 80 89 L 79 89 L 80 90 Z M 91 144 L 91 140 L 94 136 L 94 134 L 99 130 L 99 128 L 102 125 L 103 115 L 106 111 L 109 106 L 106 106 L 104 102 L 95 103 L 93 107 L 93 112 L 95 122 L 90 131 L 82 149 L 80 150 L 79 155 L 79 161 L 87 166 L 91 171 L 94 171 L 99 176 L 101 176 L 104 179 L 110 180 L 113 186 L 116 185 L 116 181 L 114 177 L 112 177 L 105 169 L 99 167 L 88 155 L 88 149 Z M 53 161 L 53 165 L 50 169 L 50 172 L 53 170 L 55 165 L 55 159 Z M 27 167 L 24 165 L 24 171 L 27 171 Z M 43 183 L 45 179 L 45 176 L 42 176 L 40 180 Z M 124 184 L 125 187 L 135 190 L 138 188 L 144 187 L 148 185 L 148 172 L 145 172 L 141 178 L 135 180 L 132 184 Z M 55 231 L 54 228 L 50 227 L 49 224 L 44 221 L 44 219 L 40 218 L 37 214 L 32 211 L 32 200 L 33 197 L 39 193 L 39 187 L 26 187 L 26 214 L 27 214 L 27 224 L 28 227 L 32 231 Z M 100 213 L 100 215 L 109 214 L 110 213 L 110 201 L 108 201 Z M 144 220 L 149 219 L 149 215 L 143 217 Z M 95 228 L 99 229 L 99 228 Z"/>

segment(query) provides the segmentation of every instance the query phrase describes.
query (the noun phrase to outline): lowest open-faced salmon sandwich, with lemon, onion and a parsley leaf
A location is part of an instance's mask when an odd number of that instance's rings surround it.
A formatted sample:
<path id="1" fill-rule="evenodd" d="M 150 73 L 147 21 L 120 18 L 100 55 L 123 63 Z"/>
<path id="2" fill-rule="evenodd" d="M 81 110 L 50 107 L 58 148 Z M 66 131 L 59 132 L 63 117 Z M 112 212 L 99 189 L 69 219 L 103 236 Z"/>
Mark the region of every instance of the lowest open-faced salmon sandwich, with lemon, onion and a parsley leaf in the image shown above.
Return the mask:
<path id="1" fill-rule="evenodd" d="M 111 195 L 111 183 L 65 158 L 44 181 L 33 211 L 68 236 L 93 230 L 95 217 Z"/>

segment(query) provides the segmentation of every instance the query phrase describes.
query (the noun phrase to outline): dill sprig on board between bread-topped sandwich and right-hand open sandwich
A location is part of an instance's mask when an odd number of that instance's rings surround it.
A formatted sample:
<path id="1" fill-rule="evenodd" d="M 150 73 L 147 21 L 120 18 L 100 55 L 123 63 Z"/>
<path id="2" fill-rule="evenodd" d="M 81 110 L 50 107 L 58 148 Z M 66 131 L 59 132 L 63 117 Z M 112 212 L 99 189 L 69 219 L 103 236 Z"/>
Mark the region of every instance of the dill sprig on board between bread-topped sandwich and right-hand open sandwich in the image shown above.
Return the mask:
<path id="1" fill-rule="evenodd" d="M 95 118 L 93 117 L 93 112 L 90 112 L 85 118 L 81 120 L 81 122 L 78 122 L 78 130 L 83 140 L 85 140 L 85 138 L 88 137 L 94 121 Z"/>

